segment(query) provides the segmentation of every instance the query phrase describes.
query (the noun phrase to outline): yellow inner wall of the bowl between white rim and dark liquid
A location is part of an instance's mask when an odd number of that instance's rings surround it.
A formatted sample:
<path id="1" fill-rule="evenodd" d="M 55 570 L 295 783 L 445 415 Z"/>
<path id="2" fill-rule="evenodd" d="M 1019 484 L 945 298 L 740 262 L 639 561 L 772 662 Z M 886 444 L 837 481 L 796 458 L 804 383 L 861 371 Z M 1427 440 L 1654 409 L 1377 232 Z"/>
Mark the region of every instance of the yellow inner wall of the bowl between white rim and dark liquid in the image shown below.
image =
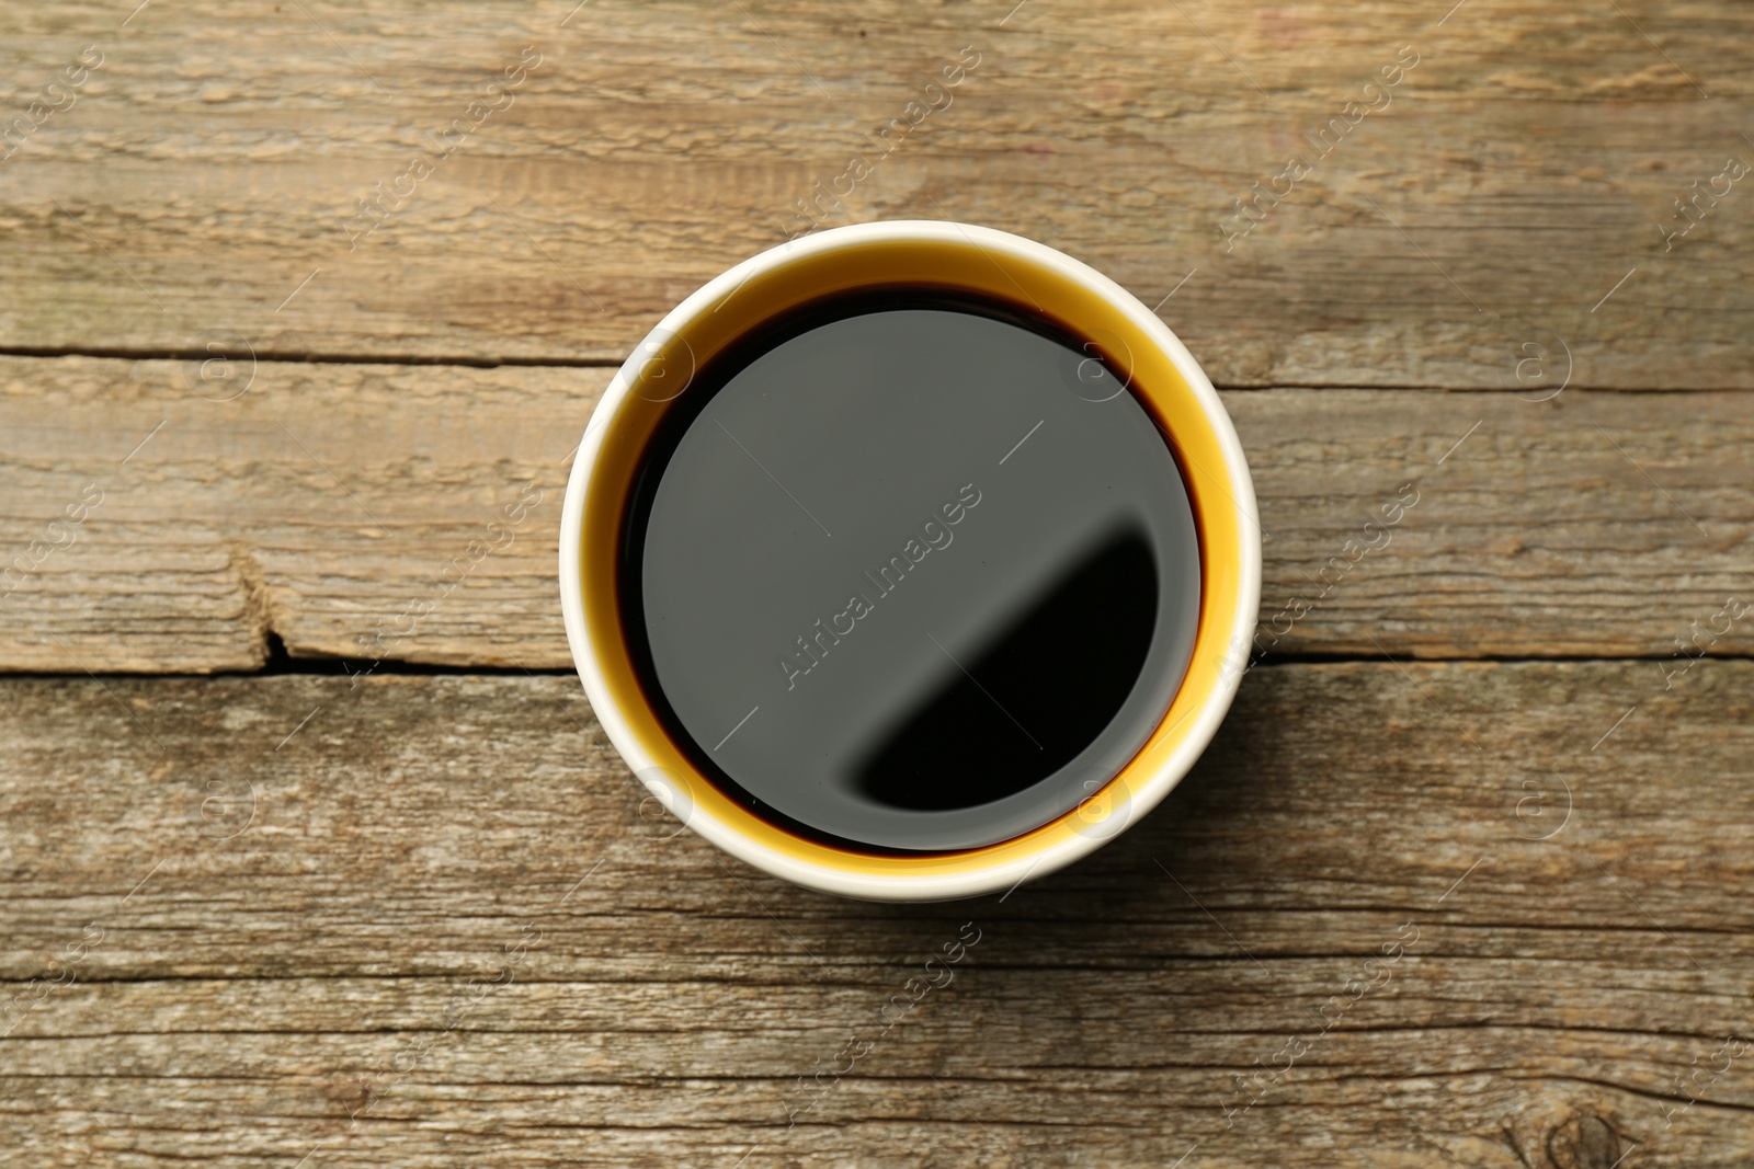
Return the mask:
<path id="1" fill-rule="evenodd" d="M 1200 627 L 1193 657 L 1168 712 L 1138 754 L 1082 806 L 1038 829 L 982 848 L 931 855 L 872 855 L 796 836 L 761 820 L 700 775 L 645 701 L 623 634 L 616 587 L 628 491 L 647 440 L 670 400 L 679 396 L 674 389 L 679 372 L 703 366 L 751 328 L 791 308 L 884 284 L 930 284 L 951 293 L 1030 305 L 1056 319 L 1070 335 L 1093 338 L 1116 372 L 1130 379 L 1135 398 L 1152 414 L 1159 429 L 1166 431 L 1200 531 Z M 951 875 L 1028 861 L 1072 836 L 1107 836 L 1103 820 L 1130 813 L 1131 792 L 1142 790 L 1149 776 L 1170 761 L 1187 736 L 1193 715 L 1221 684 L 1226 640 L 1242 585 L 1244 547 L 1223 445 L 1180 370 L 1144 329 L 1073 279 L 1012 254 L 995 256 L 973 240 L 882 240 L 809 254 L 751 277 L 716 310 L 696 315 L 679 335 L 667 338 L 658 352 L 645 351 L 642 356 L 647 358 L 645 365 L 609 421 L 586 484 L 579 577 L 584 620 L 603 682 L 652 764 L 689 785 L 696 811 L 795 861 L 863 876 Z"/>

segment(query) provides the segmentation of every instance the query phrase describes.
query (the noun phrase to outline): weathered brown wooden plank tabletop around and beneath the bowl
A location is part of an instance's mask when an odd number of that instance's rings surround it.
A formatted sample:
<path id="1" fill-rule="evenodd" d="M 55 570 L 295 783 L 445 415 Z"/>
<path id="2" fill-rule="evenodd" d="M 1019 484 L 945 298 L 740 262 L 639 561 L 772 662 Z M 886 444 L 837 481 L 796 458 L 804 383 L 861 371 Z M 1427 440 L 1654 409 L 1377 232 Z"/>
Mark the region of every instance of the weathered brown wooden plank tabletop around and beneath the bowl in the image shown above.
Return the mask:
<path id="1" fill-rule="evenodd" d="M 0 11 L 0 1160 L 1754 1158 L 1754 18 L 1014 4 Z M 884 217 L 1158 308 L 1279 633 L 963 904 L 649 818 L 556 601 L 612 366 Z"/>

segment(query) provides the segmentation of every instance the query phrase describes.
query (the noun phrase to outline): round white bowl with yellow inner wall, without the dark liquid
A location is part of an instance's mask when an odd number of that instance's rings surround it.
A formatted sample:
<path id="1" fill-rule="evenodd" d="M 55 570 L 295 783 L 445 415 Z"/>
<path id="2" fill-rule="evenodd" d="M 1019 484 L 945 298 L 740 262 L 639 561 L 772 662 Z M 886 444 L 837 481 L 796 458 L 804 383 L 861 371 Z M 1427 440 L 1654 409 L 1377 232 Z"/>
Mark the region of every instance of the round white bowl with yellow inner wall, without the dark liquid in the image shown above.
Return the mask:
<path id="1" fill-rule="evenodd" d="M 868 855 L 803 840 L 714 787 L 645 703 L 621 636 L 616 547 L 644 442 L 695 372 L 751 326 L 823 294 L 916 280 L 1049 308 L 1100 338 L 1170 438 L 1200 528 L 1201 603 L 1180 689 L 1145 747 L 1077 810 L 998 845 Z M 560 535 L 560 592 L 579 678 L 609 741 L 672 815 L 775 876 L 847 897 L 938 901 L 1009 890 L 1112 840 L 1200 757 L 1242 678 L 1261 591 L 1254 487 L 1230 415 L 1175 335 L 1126 289 L 1017 235 L 938 221 L 868 223 L 745 259 L 677 305 L 616 373 L 579 443 Z"/>

